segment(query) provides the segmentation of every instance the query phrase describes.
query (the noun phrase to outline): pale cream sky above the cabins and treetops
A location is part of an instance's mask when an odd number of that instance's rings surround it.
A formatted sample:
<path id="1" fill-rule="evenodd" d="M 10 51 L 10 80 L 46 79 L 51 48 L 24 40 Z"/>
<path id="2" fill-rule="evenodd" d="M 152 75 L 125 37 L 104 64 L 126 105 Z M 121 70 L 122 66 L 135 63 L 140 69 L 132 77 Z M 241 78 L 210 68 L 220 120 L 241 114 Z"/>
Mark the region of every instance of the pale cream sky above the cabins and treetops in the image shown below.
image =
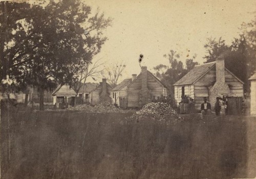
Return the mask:
<path id="1" fill-rule="evenodd" d="M 254 18 L 256 1 L 131 1 L 89 0 L 93 10 L 99 7 L 113 25 L 105 31 L 109 38 L 95 59 L 103 58 L 111 65 L 126 63 L 124 78 L 139 74 L 139 54 L 148 70 L 162 63 L 169 50 L 176 50 L 185 60 L 197 54 L 196 61 L 205 61 L 206 38 L 222 37 L 230 44 L 241 32 L 238 28 Z M 120 81 L 119 81 L 120 82 Z"/>

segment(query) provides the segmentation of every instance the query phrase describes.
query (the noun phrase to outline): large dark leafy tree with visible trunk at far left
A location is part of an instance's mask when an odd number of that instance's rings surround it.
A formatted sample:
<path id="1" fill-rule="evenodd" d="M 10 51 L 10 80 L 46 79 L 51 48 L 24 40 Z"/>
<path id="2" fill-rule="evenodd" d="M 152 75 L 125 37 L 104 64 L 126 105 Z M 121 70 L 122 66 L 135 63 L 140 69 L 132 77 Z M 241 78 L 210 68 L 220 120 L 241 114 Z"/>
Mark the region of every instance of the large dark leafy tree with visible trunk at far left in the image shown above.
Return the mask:
<path id="1" fill-rule="evenodd" d="M 8 13 L 13 4 L 17 3 L 7 3 Z M 31 8 L 29 5 L 28 9 L 26 17 L 18 21 L 18 28 L 12 28 L 16 35 L 5 41 L 12 45 L 4 50 L 2 58 L 9 61 L 8 66 L 2 68 L 2 74 L 9 69 L 9 76 L 19 84 L 36 86 L 43 110 L 44 90 L 54 88 L 56 82 L 70 83 L 77 78 L 81 66 L 100 51 L 106 40 L 103 30 L 110 25 L 111 19 L 105 19 L 99 12 L 92 16 L 91 7 L 79 0 L 42 1 Z M 23 12 L 18 7 L 15 10 Z"/>

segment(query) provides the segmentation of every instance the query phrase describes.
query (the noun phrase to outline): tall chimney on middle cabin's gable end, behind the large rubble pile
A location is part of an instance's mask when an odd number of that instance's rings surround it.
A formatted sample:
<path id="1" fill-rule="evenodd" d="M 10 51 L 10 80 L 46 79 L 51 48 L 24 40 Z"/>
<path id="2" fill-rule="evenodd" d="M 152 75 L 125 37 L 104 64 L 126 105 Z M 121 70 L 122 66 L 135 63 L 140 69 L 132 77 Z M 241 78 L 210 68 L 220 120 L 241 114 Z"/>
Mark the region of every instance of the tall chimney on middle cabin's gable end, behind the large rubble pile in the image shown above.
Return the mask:
<path id="1" fill-rule="evenodd" d="M 146 66 L 141 67 L 141 90 L 139 93 L 139 106 L 142 107 L 143 105 L 151 102 L 151 95 L 150 91 L 147 88 L 147 70 Z"/>

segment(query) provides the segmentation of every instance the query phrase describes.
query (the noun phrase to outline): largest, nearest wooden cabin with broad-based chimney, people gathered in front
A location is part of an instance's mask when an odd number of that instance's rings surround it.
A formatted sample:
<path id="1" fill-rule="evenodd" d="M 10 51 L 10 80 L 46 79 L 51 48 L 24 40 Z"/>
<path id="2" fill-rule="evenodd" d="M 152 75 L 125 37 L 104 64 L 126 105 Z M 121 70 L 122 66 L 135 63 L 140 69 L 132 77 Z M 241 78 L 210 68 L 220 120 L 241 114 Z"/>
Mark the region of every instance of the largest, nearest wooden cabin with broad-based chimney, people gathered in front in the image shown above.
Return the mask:
<path id="1" fill-rule="evenodd" d="M 244 96 L 243 81 L 225 68 L 223 57 L 214 62 L 196 65 L 174 86 L 176 104 L 178 105 L 181 97 L 186 95 L 195 100 L 197 110 L 200 110 L 204 97 L 207 97 L 213 109 L 216 97 Z"/>

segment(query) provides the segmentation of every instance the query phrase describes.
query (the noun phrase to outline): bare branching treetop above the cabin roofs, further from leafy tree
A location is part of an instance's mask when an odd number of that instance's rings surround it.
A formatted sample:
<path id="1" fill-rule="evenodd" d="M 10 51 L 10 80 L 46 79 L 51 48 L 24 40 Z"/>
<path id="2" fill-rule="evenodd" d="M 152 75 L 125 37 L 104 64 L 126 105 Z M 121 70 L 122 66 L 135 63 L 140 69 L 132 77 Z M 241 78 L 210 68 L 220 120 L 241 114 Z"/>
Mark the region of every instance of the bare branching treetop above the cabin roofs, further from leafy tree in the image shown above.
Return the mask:
<path id="1" fill-rule="evenodd" d="M 122 72 L 125 69 L 125 67 L 126 65 L 122 62 L 115 63 L 111 68 L 107 70 L 107 75 L 105 76 L 102 73 L 102 76 L 108 80 L 112 87 L 116 87 L 119 77 L 122 76 Z"/>

